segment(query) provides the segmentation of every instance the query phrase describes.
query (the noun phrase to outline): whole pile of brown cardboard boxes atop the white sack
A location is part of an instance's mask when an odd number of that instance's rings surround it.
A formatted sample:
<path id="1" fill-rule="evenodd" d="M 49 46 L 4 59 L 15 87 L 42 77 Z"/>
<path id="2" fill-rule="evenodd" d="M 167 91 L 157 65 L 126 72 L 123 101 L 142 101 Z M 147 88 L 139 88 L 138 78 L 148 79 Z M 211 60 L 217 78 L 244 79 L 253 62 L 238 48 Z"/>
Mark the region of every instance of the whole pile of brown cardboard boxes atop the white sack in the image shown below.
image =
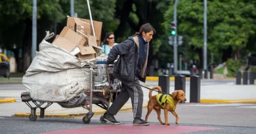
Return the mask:
<path id="1" fill-rule="evenodd" d="M 80 59 L 93 59 L 100 54 L 100 36 L 102 22 L 93 21 L 95 36 L 91 20 L 68 16 L 67 25 L 62 29 L 60 35 L 56 35 L 54 45 L 70 52 Z"/>

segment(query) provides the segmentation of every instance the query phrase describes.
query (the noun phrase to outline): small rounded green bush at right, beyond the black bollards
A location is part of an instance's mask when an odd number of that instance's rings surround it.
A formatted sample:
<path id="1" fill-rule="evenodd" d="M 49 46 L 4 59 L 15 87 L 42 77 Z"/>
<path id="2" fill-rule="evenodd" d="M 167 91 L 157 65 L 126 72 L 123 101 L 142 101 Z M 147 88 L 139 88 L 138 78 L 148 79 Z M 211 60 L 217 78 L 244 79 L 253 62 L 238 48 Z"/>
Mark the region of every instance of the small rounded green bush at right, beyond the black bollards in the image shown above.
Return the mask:
<path id="1" fill-rule="evenodd" d="M 236 76 L 236 72 L 240 70 L 242 63 L 240 60 L 228 59 L 226 61 L 226 67 L 228 69 L 228 76 Z"/>

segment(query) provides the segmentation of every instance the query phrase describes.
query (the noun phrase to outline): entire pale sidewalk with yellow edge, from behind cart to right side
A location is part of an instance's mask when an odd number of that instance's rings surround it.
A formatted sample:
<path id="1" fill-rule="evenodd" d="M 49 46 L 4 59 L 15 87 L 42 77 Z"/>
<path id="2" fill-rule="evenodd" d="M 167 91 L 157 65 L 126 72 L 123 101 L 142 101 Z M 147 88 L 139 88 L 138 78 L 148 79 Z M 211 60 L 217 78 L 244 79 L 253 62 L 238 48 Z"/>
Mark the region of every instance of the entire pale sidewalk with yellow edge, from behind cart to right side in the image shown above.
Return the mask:
<path id="1" fill-rule="evenodd" d="M 150 85 L 145 85 L 152 88 Z M 148 92 L 146 88 L 142 88 L 144 92 L 143 106 L 146 107 L 148 102 Z M 170 93 L 174 91 L 174 87 L 170 87 Z M 156 95 L 153 92 L 152 95 Z M 256 104 L 256 86 L 255 85 L 208 85 L 201 86 L 201 103 L 254 103 Z M 190 87 L 186 86 L 186 103 L 190 103 Z M 30 108 L 20 100 L 16 103 L 0 103 L 0 116 L 19 116 L 28 117 Z M 33 104 L 33 103 L 31 103 Z M 43 106 L 45 106 L 44 104 Z M 129 100 L 124 107 L 120 110 L 132 110 L 131 100 Z M 93 105 L 93 112 L 95 114 L 104 114 L 106 110 Z M 39 109 L 37 109 L 37 116 L 39 116 Z M 45 110 L 45 117 L 56 118 L 72 118 L 74 116 L 84 116 L 88 110 L 82 107 L 65 109 L 60 107 L 57 103 L 53 103 Z"/>

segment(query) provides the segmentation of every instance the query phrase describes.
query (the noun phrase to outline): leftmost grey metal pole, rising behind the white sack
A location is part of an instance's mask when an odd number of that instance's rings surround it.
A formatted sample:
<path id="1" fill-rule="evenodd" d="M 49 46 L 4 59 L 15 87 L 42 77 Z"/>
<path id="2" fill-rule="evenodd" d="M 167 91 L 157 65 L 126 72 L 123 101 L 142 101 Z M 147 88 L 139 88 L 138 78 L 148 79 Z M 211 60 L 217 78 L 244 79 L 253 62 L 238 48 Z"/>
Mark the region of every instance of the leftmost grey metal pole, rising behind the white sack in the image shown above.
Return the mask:
<path id="1" fill-rule="evenodd" d="M 33 0 L 33 19 L 32 19 L 32 50 L 31 58 L 35 57 L 37 50 L 37 0 Z"/>

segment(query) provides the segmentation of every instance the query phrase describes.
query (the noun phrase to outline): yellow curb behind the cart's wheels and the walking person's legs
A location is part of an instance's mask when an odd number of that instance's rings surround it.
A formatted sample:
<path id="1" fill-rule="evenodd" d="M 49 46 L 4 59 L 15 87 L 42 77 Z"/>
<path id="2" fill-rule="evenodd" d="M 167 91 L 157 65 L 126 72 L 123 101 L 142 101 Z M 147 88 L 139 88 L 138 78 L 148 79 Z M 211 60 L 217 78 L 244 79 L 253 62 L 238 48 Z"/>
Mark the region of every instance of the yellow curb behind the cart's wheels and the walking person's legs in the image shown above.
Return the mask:
<path id="1" fill-rule="evenodd" d="M 147 107 L 147 105 L 142 105 L 142 107 Z M 127 106 L 127 107 L 123 107 L 119 110 L 120 111 L 125 111 L 125 110 L 132 110 L 133 107 L 131 106 Z M 100 114 L 104 114 L 106 112 L 106 110 L 95 110 L 94 112 L 94 116 L 95 115 L 100 115 Z M 37 117 L 40 116 L 39 114 L 40 112 L 37 112 Z M 85 116 L 86 111 L 85 112 L 73 112 L 73 113 L 67 113 L 67 114 L 45 114 L 45 118 L 77 118 L 79 116 Z M 30 113 L 15 113 L 14 117 L 28 117 L 30 116 Z"/>

